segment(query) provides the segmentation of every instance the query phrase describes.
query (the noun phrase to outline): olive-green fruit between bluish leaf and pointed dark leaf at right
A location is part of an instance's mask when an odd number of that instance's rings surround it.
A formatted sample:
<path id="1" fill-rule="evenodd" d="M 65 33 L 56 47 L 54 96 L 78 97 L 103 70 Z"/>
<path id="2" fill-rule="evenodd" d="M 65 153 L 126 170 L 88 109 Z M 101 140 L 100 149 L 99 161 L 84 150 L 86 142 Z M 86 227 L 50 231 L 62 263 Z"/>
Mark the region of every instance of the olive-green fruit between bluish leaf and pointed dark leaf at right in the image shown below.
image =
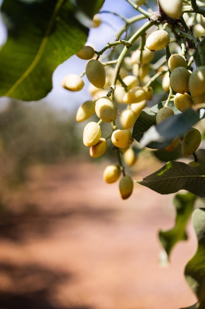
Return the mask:
<path id="1" fill-rule="evenodd" d="M 191 128 L 183 137 L 181 151 L 184 157 L 193 154 L 200 146 L 202 135 L 196 128 Z"/>

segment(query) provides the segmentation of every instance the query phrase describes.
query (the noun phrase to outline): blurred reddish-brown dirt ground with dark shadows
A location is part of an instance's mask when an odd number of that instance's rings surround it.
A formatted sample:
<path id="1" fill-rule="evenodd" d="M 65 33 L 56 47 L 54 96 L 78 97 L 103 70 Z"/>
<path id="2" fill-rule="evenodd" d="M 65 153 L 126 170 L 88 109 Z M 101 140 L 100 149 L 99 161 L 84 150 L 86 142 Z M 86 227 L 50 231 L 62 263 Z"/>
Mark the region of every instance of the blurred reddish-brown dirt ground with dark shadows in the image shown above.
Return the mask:
<path id="1" fill-rule="evenodd" d="M 174 195 L 136 184 L 123 201 L 118 184 L 102 179 L 106 164 L 73 158 L 38 165 L 21 190 L 7 192 L 0 309 L 178 309 L 196 302 L 183 275 L 196 250 L 191 226 L 170 265 L 158 263 L 157 233 L 174 225 Z"/>

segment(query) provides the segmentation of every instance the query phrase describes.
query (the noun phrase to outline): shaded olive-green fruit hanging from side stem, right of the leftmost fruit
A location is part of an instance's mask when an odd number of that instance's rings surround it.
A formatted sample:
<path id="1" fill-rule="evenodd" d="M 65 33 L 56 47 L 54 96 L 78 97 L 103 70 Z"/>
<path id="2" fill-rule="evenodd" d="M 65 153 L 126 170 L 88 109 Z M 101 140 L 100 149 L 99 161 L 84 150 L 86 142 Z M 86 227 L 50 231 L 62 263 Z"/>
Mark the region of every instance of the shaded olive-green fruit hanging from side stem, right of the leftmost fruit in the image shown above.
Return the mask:
<path id="1" fill-rule="evenodd" d="M 106 81 L 105 68 L 101 62 L 96 59 L 88 61 L 86 66 L 86 76 L 89 82 L 97 88 L 103 88 Z"/>

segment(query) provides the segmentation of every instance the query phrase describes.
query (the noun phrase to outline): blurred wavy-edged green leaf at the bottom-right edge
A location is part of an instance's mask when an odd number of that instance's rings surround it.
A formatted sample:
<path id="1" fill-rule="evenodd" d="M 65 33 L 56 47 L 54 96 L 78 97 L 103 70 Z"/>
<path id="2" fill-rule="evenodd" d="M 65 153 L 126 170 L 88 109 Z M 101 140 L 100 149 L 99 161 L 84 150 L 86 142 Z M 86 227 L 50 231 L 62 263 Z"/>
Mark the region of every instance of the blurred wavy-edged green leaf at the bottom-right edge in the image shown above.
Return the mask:
<path id="1" fill-rule="evenodd" d="M 192 223 L 198 239 L 198 249 L 194 257 L 185 267 L 185 277 L 199 304 L 197 308 L 205 308 L 205 208 L 193 212 Z"/>

